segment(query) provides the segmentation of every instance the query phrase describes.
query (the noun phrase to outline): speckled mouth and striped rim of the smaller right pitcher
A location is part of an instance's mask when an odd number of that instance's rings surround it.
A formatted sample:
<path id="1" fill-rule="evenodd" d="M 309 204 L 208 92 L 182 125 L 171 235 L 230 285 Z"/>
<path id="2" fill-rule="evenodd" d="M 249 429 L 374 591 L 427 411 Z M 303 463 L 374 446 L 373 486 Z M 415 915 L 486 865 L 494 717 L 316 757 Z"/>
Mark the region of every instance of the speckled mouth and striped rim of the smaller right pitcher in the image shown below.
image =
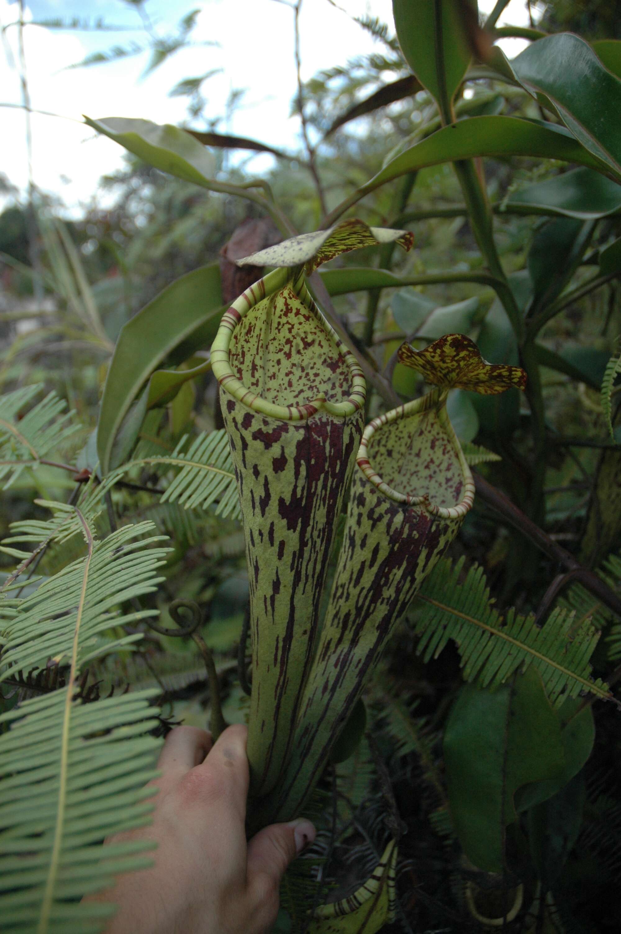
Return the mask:
<path id="1" fill-rule="evenodd" d="M 433 389 L 420 399 L 400 405 L 374 418 L 362 434 L 356 462 L 369 482 L 392 502 L 403 506 L 419 506 L 431 516 L 462 519 L 470 511 L 474 502 L 474 480 L 446 412 L 445 401 L 445 391 Z M 395 468 L 394 462 L 397 459 L 393 456 L 388 438 L 383 441 L 382 448 L 377 452 L 374 452 L 374 442 L 379 440 L 383 429 L 386 430 L 390 425 L 404 423 L 410 418 L 413 420 L 417 418 L 419 432 L 416 433 L 415 425 L 409 442 L 411 449 L 409 461 L 405 458 L 402 467 Z M 423 436 L 423 428 L 436 430 L 436 436 L 431 437 L 430 440 L 429 452 L 422 447 L 422 444 L 419 449 L 415 450 L 416 440 L 420 441 Z M 444 447 L 436 453 L 435 448 L 438 444 Z M 420 461 L 421 454 L 428 454 L 428 460 Z M 443 457 L 445 458 L 444 465 L 440 460 Z M 382 460 L 386 463 L 382 464 Z M 391 474 L 394 474 L 395 470 L 397 470 L 397 475 L 393 479 Z M 424 491 L 402 492 L 395 487 L 396 480 L 400 481 L 400 485 L 401 482 L 406 485 L 416 484 Z M 425 489 L 425 487 L 429 488 Z"/>

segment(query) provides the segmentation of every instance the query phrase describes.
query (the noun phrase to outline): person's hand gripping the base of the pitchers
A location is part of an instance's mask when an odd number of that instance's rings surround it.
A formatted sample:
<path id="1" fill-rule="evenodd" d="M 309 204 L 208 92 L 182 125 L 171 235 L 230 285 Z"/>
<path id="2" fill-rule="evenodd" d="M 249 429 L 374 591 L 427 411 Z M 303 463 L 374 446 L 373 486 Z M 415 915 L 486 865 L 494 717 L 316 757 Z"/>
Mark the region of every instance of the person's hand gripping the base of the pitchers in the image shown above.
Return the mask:
<path id="1" fill-rule="evenodd" d="M 177 727 L 162 748 L 153 823 L 111 838 L 156 841 L 155 865 L 117 878 L 89 900 L 118 913 L 106 934 L 266 934 L 289 863 L 315 839 L 307 820 L 246 840 L 247 728 Z"/>

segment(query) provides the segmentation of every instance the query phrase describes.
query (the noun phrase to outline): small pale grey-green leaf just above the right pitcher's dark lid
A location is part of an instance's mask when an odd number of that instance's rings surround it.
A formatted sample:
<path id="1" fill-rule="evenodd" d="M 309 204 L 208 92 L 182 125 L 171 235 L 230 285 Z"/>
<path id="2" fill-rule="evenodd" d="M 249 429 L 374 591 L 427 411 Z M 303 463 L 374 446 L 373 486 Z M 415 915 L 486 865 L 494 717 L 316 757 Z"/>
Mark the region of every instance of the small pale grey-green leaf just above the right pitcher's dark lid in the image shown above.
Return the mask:
<path id="1" fill-rule="evenodd" d="M 468 333 L 473 327 L 479 300 L 474 296 L 464 302 L 439 306 L 413 289 L 392 296 L 392 317 L 409 335 L 436 340 L 448 333 Z"/>

